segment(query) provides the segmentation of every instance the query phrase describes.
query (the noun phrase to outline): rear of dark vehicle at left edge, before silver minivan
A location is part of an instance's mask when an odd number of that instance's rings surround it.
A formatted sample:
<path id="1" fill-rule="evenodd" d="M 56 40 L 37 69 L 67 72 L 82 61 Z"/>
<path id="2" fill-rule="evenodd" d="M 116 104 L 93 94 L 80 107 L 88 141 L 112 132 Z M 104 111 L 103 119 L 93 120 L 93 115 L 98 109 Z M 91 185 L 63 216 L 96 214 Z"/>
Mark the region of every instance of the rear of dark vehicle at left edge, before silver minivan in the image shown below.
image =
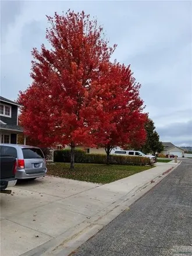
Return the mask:
<path id="1" fill-rule="evenodd" d="M 6 190 L 8 187 L 15 186 L 17 180 L 15 173 L 17 169 L 17 161 L 15 157 L 0 157 L 1 177 L 0 190 L 1 193 L 11 193 L 11 190 Z M 5 191 L 6 190 L 6 191 Z"/>

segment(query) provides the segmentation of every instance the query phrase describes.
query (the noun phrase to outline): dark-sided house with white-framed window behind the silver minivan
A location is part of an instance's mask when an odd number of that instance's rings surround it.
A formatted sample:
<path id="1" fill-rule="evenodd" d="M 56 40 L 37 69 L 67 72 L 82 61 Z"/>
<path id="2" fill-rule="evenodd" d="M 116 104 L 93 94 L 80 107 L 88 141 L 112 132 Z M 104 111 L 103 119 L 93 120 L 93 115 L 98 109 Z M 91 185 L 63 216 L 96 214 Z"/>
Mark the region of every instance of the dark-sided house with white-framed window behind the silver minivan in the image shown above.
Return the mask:
<path id="1" fill-rule="evenodd" d="M 0 96 L 0 143 L 17 144 L 17 134 L 23 129 L 18 125 L 20 105 Z"/>

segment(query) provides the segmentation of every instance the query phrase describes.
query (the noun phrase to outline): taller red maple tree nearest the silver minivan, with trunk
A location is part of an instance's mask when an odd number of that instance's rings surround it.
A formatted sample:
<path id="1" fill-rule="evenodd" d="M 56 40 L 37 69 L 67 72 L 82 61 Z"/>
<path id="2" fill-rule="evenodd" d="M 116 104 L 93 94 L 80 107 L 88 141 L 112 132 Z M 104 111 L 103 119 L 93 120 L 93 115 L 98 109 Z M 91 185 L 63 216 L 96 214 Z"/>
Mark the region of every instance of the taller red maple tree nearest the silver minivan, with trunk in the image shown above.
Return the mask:
<path id="1" fill-rule="evenodd" d="M 32 51 L 33 83 L 20 92 L 20 122 L 41 146 L 70 145 L 73 168 L 74 148 L 95 145 L 93 132 L 101 123 L 95 90 L 116 45 L 108 47 L 102 27 L 84 12 L 47 17 L 52 48 L 42 44 Z"/>

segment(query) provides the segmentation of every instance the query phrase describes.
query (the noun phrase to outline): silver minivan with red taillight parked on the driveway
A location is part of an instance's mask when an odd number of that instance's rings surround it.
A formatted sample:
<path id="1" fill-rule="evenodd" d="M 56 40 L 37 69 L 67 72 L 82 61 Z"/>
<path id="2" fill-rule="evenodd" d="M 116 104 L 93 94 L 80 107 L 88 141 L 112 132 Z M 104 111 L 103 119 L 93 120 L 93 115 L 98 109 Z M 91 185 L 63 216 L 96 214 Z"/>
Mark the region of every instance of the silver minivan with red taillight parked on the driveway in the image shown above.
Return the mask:
<path id="1" fill-rule="evenodd" d="M 1 155 L 16 158 L 16 179 L 36 179 L 47 173 L 46 160 L 38 147 L 17 144 L 1 144 Z"/>

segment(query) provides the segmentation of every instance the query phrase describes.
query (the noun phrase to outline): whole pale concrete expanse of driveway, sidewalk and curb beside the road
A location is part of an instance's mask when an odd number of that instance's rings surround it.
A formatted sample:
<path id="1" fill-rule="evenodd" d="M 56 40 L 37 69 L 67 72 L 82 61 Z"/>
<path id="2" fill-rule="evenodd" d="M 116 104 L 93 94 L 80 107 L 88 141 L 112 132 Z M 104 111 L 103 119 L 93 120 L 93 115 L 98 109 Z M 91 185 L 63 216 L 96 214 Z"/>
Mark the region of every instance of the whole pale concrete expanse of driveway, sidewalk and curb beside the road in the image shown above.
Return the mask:
<path id="1" fill-rule="evenodd" d="M 104 185 L 48 176 L 17 185 L 1 196 L 1 255 L 68 255 L 175 166 L 157 163 Z"/>

